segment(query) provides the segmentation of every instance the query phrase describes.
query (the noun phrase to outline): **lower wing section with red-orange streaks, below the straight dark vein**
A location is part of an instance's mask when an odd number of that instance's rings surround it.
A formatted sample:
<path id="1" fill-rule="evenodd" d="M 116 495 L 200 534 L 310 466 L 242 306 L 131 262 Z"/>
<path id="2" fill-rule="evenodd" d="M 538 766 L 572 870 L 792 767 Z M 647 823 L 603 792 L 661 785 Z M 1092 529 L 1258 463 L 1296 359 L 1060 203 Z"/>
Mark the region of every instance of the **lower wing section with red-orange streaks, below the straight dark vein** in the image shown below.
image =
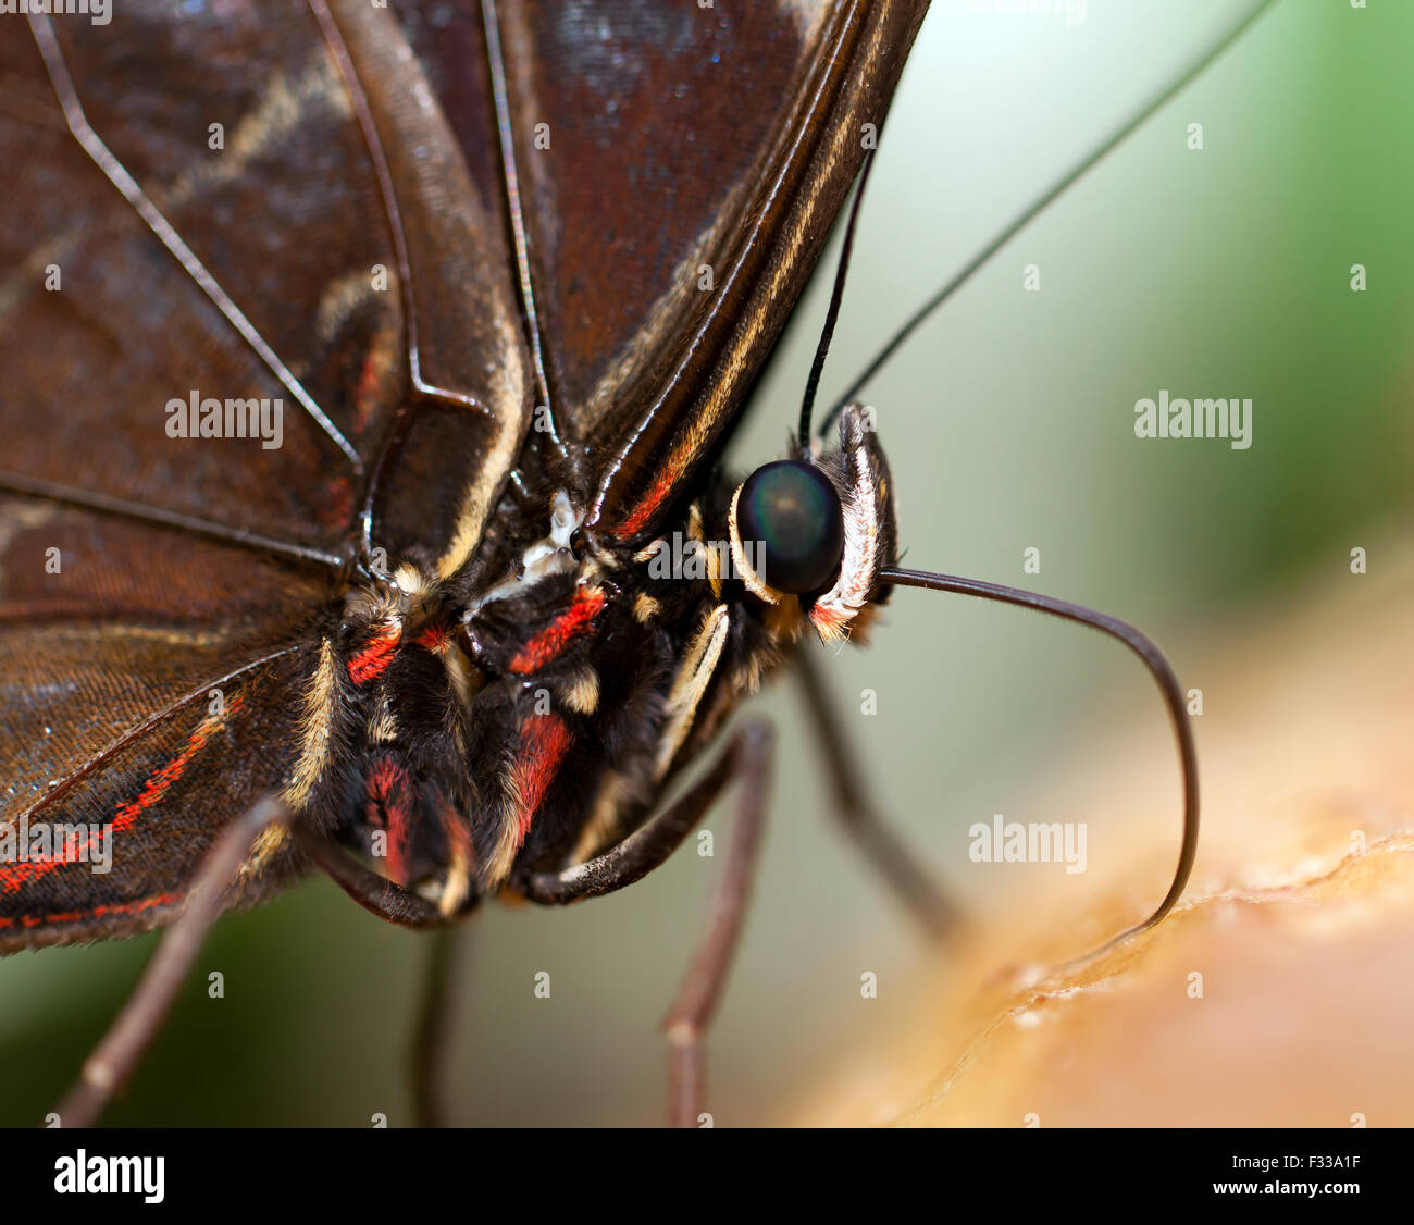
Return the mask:
<path id="1" fill-rule="evenodd" d="M 298 751 L 322 584 L 54 502 L 0 525 L 0 952 L 150 927 Z"/>

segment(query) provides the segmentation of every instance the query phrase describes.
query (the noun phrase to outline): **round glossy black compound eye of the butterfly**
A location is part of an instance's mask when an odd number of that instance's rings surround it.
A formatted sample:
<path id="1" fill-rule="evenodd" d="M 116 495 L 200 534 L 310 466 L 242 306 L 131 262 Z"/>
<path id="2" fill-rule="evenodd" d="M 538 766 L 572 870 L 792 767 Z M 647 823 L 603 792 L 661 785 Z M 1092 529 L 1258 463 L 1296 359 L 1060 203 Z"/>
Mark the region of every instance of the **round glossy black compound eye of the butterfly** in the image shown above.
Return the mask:
<path id="1" fill-rule="evenodd" d="M 766 464 L 747 478 L 737 532 L 762 581 L 796 596 L 826 587 L 844 556 L 840 495 L 819 468 L 799 460 Z"/>

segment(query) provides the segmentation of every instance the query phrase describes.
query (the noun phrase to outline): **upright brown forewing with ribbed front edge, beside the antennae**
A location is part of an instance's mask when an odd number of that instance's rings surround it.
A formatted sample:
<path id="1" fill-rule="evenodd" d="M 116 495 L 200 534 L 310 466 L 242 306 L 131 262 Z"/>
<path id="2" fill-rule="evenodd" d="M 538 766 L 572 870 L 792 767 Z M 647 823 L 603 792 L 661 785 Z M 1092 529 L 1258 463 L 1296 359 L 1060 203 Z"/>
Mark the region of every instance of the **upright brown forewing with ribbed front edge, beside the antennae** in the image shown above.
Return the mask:
<path id="1" fill-rule="evenodd" d="M 926 0 L 496 7 L 550 402 L 635 536 L 740 410 Z"/>

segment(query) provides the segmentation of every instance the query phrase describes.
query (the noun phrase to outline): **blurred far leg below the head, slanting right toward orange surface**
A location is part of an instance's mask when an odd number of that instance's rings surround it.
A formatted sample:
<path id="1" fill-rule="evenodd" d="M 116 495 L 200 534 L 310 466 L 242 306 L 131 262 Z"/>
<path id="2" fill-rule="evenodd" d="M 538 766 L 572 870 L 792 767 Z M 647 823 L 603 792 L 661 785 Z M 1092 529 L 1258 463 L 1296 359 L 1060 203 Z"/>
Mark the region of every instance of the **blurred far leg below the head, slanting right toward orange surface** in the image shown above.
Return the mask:
<path id="1" fill-rule="evenodd" d="M 820 757 L 834 794 L 834 812 L 854 843 L 884 876 L 899 901 L 933 939 L 952 935 L 957 908 L 945 897 L 932 877 L 884 823 L 868 796 L 864 771 L 854 755 L 850 738 L 826 692 L 824 678 L 809 646 L 796 646 L 796 675 L 810 712 L 810 724 L 820 743 Z"/>

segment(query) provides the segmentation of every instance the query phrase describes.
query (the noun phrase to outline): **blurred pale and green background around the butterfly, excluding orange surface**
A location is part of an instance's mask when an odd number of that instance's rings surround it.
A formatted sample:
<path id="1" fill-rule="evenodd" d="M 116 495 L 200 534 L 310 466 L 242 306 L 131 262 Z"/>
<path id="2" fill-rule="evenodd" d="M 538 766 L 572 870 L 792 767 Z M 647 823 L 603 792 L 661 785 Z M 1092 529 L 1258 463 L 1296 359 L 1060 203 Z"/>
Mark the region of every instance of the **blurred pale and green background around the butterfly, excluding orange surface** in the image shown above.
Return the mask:
<path id="1" fill-rule="evenodd" d="M 935 0 L 923 25 L 871 181 L 826 397 L 1246 6 L 1089 0 L 1079 24 L 974 11 L 987 7 Z M 909 564 L 1126 617 L 1182 678 L 1215 620 L 1280 620 L 1295 593 L 1348 574 L 1352 545 L 1393 539 L 1414 504 L 1411 48 L 1414 4 L 1280 0 L 923 328 L 867 395 Z M 1202 151 L 1188 149 L 1195 122 Z M 793 426 L 833 252 L 734 444 L 738 468 L 778 457 Z M 1039 293 L 1022 289 L 1032 263 Z M 1349 287 L 1355 263 L 1369 270 L 1365 293 Z M 1161 388 L 1250 396 L 1251 448 L 1137 440 L 1133 405 Z M 1039 576 L 1022 573 L 1028 546 Z M 867 649 L 820 658 L 882 806 L 980 908 L 1004 904 L 1005 877 L 967 861 L 973 820 L 1068 816 L 1046 806 L 1048 775 L 1118 717 L 1147 720 L 1158 745 L 1167 737 L 1121 648 L 995 605 L 899 591 Z M 872 717 L 858 713 L 867 687 Z M 795 686 L 754 704 L 775 720 L 781 755 L 755 905 L 710 1043 L 720 1125 L 785 1117 L 813 1072 L 921 1007 L 926 987 L 906 917 L 829 820 Z M 1176 812 L 1176 774 L 1172 786 Z M 708 826 L 724 836 L 727 812 Z M 1092 863 L 1100 854 L 1092 839 Z M 659 1122 L 656 1026 L 720 863 L 689 850 L 561 912 L 488 907 L 461 948 L 457 1120 Z M 0 1123 L 52 1105 L 151 944 L 0 962 Z M 426 952 L 318 881 L 225 919 L 109 1120 L 410 1122 Z M 884 987 L 867 1004 L 864 969 Z M 225 975 L 223 1000 L 206 997 L 211 970 Z M 549 1000 L 533 994 L 539 970 Z"/>

